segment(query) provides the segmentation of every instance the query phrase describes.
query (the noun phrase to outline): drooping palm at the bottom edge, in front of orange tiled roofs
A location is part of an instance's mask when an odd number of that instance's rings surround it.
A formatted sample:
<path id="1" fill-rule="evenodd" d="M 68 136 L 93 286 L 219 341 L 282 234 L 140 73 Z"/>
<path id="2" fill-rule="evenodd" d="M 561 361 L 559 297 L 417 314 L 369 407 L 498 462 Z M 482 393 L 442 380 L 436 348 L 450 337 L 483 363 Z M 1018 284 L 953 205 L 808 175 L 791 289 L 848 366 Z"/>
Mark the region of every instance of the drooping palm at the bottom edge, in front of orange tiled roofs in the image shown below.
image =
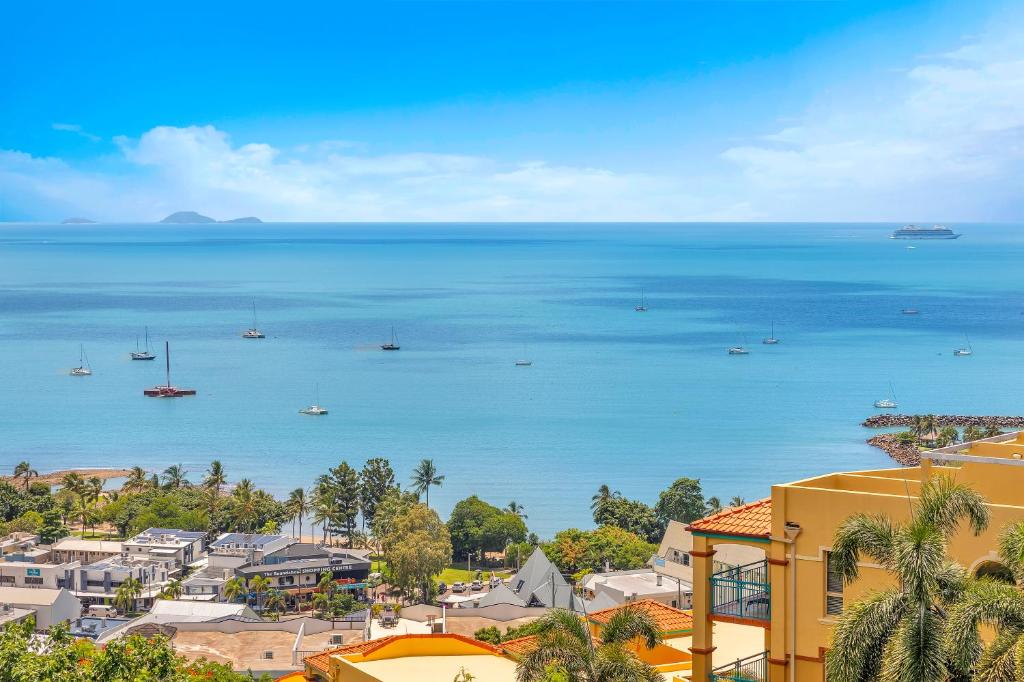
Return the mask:
<path id="1" fill-rule="evenodd" d="M 559 666 L 578 682 L 654 682 L 662 675 L 640 660 L 630 644 L 652 649 L 662 641 L 654 621 L 635 607 L 622 608 L 601 629 L 598 642 L 591 639 L 587 624 L 575 613 L 555 609 L 537 621 L 539 646 L 516 668 L 518 682 L 546 680 L 551 666 Z"/>

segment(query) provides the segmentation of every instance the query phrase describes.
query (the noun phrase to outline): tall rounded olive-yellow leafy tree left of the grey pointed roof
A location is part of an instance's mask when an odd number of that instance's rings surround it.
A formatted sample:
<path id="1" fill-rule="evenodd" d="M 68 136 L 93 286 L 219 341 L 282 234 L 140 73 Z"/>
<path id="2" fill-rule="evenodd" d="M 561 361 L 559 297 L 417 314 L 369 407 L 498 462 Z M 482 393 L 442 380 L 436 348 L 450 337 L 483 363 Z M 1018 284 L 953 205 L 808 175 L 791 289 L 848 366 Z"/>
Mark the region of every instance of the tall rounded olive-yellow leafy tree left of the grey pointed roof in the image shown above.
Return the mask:
<path id="1" fill-rule="evenodd" d="M 437 513 L 416 504 L 399 512 L 381 538 L 394 584 L 403 594 L 420 587 L 429 594 L 431 579 L 452 558 L 452 538 Z"/>

